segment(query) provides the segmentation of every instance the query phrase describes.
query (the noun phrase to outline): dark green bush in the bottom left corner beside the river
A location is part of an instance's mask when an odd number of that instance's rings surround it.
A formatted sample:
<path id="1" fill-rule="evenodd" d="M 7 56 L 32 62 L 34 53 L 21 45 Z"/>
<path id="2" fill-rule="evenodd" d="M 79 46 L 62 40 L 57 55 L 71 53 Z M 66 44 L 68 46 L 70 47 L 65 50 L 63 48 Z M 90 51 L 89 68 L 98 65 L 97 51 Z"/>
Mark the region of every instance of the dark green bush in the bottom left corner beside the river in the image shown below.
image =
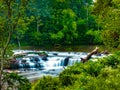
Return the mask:
<path id="1" fill-rule="evenodd" d="M 31 88 L 31 83 L 29 82 L 28 79 L 19 76 L 16 73 L 4 73 L 3 74 L 3 87 L 4 90 L 30 90 Z"/>

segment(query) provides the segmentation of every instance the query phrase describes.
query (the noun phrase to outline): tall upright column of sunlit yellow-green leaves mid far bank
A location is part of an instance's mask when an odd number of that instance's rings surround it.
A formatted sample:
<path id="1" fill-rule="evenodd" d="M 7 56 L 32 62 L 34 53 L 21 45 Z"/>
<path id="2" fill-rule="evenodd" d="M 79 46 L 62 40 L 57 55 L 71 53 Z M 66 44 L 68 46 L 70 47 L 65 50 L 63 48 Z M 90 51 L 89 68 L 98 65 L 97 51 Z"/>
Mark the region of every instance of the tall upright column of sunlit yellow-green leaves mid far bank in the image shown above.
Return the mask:
<path id="1" fill-rule="evenodd" d="M 75 21 L 76 15 L 71 9 L 64 9 L 62 11 L 62 31 L 65 34 L 64 39 L 66 39 L 66 43 L 71 43 L 73 38 L 77 37 L 77 23 Z"/>

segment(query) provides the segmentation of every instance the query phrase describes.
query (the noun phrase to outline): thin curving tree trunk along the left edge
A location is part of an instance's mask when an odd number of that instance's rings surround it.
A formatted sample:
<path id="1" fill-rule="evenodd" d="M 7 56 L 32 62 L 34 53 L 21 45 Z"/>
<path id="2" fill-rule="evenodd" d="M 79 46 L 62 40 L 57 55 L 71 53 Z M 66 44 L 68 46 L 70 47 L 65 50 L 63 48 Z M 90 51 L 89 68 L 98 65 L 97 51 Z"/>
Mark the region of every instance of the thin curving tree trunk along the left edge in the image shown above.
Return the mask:
<path id="1" fill-rule="evenodd" d="M 7 22 L 7 29 L 8 29 L 8 38 L 7 41 L 5 43 L 5 45 L 3 46 L 3 48 L 1 49 L 1 60 L 0 60 L 0 90 L 2 90 L 2 78 L 3 78 L 3 64 L 5 61 L 5 53 L 6 53 L 6 49 L 9 45 L 10 39 L 11 39 L 11 35 L 12 35 L 12 31 L 13 31 L 13 26 L 11 25 L 11 2 L 9 2 L 8 0 L 6 1 L 7 4 L 7 16 L 8 16 L 8 22 Z M 4 89 L 3 89 L 4 90 Z"/>

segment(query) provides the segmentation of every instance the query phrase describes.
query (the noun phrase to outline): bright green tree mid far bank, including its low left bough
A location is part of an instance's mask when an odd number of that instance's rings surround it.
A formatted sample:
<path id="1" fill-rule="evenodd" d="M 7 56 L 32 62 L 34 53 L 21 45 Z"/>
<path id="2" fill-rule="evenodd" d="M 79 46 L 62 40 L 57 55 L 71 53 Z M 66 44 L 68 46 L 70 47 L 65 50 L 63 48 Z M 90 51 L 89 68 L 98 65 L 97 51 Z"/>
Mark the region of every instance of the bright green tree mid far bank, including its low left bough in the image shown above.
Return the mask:
<path id="1" fill-rule="evenodd" d="M 54 40 L 62 39 L 64 42 L 63 44 L 71 44 L 74 38 L 77 37 L 76 31 L 76 21 L 75 21 L 75 13 L 71 9 L 64 9 L 62 11 L 61 22 L 61 30 L 51 33 L 51 38 Z"/>

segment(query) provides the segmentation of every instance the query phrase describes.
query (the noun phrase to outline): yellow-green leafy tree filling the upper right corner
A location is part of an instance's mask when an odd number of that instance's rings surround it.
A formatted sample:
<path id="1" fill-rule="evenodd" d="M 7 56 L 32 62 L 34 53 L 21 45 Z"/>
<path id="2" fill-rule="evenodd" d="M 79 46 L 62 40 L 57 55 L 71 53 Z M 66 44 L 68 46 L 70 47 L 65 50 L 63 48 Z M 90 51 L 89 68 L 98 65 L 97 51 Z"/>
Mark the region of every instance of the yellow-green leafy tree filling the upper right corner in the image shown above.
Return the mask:
<path id="1" fill-rule="evenodd" d="M 99 16 L 99 23 L 102 25 L 102 40 L 106 46 L 118 47 L 120 37 L 119 27 L 119 4 L 118 0 L 97 1 L 95 13 Z"/>

